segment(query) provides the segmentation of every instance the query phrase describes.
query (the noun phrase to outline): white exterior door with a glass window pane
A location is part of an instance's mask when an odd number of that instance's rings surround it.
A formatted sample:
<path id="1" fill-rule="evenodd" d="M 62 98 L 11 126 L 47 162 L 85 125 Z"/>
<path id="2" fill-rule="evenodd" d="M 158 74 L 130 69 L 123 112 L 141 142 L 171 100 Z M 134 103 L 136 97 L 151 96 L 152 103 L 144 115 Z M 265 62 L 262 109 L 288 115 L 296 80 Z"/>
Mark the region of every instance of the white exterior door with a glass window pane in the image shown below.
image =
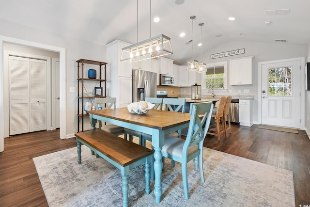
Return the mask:
<path id="1" fill-rule="evenodd" d="M 300 128 L 300 61 L 262 64 L 262 124 Z"/>

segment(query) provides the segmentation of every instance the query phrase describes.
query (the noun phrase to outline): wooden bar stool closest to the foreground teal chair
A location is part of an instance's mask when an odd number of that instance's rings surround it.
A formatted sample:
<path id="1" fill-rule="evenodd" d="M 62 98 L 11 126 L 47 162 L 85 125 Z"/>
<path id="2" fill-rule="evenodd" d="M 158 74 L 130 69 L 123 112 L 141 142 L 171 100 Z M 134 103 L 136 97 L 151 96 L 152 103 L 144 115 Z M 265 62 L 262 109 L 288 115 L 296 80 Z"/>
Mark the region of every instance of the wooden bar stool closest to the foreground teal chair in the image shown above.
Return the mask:
<path id="1" fill-rule="evenodd" d="M 225 126 L 224 126 L 224 105 L 226 97 L 222 96 L 219 100 L 217 109 L 213 110 L 212 117 L 215 119 L 215 124 L 209 127 L 207 134 L 217 136 L 217 140 L 220 141 L 220 135 L 224 133 L 225 136 Z M 217 106 L 217 104 L 216 104 Z M 222 123 L 222 130 L 219 127 L 219 121 Z M 216 125 L 216 126 L 215 126 Z"/>

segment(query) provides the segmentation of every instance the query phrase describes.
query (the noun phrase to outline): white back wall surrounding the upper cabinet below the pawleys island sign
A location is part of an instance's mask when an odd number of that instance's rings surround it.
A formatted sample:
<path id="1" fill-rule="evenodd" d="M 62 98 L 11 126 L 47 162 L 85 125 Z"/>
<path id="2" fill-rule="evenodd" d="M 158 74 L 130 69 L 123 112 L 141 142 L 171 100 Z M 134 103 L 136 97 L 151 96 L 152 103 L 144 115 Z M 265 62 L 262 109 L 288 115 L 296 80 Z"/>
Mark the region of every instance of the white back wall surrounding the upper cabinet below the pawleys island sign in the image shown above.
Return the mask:
<path id="1" fill-rule="evenodd" d="M 211 54 L 226 52 L 235 49 L 245 48 L 245 54 L 234 55 L 224 58 L 210 59 Z M 306 57 L 307 55 L 307 46 L 300 45 L 289 45 L 287 43 L 259 43 L 259 42 L 227 42 L 210 49 L 207 53 L 202 54 L 202 60 L 206 64 L 217 63 L 228 61 L 229 59 L 254 56 L 254 65 L 253 65 L 253 85 L 244 85 L 244 86 L 232 86 L 227 85 L 227 89 L 232 89 L 231 95 L 237 95 L 238 90 L 243 92 L 244 89 L 248 89 L 250 93 L 240 95 L 254 95 L 253 100 L 253 122 L 258 122 L 258 63 L 264 61 L 280 60 L 280 59 L 289 59 L 297 57 Z M 228 77 L 229 77 L 229 64 L 228 66 Z M 229 81 L 229 78 L 227 79 Z M 182 90 L 181 90 L 182 93 Z M 206 95 L 204 92 L 202 95 Z M 216 92 L 217 95 L 228 95 L 227 92 Z M 309 97 L 308 97 L 309 99 Z M 308 104 L 310 101 L 308 101 Z M 308 105 L 309 106 L 309 105 Z"/>

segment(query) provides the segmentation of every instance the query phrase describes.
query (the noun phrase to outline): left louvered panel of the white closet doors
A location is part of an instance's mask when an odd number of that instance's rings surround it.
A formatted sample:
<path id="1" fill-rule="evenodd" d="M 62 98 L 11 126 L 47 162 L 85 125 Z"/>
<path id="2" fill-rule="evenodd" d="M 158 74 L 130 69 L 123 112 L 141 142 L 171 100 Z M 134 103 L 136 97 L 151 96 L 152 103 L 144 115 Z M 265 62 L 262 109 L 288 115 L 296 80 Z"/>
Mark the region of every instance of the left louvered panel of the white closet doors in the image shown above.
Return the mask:
<path id="1" fill-rule="evenodd" d="M 10 56 L 10 135 L 30 131 L 29 88 L 29 59 Z"/>

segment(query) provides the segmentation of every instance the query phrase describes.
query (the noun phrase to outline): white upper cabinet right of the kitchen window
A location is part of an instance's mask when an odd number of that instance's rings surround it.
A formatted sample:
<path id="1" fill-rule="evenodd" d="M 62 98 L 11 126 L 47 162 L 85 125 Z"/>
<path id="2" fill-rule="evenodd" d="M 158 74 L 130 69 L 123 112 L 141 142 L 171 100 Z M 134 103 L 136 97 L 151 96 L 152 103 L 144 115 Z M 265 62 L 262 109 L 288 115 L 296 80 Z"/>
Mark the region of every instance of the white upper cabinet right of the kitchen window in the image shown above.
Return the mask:
<path id="1" fill-rule="evenodd" d="M 253 56 L 229 61 L 230 85 L 252 85 Z"/>

